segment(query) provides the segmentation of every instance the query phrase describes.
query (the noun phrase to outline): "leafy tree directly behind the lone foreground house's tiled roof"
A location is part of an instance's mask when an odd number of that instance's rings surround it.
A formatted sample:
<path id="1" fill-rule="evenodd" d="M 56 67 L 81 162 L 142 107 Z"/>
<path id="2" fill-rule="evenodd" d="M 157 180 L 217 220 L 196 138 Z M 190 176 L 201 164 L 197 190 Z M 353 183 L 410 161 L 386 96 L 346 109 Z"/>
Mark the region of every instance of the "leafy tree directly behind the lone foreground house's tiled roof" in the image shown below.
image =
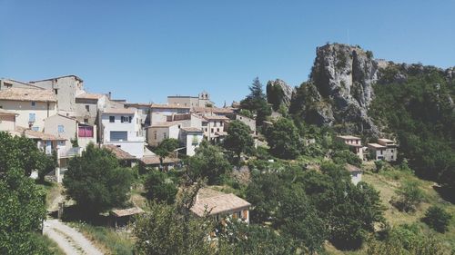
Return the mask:
<path id="1" fill-rule="evenodd" d="M 223 176 L 231 171 L 232 166 L 219 147 L 201 142 L 196 154 L 188 159 L 187 169 L 194 179 L 207 178 L 208 184 L 213 185 L 221 183 Z"/>

